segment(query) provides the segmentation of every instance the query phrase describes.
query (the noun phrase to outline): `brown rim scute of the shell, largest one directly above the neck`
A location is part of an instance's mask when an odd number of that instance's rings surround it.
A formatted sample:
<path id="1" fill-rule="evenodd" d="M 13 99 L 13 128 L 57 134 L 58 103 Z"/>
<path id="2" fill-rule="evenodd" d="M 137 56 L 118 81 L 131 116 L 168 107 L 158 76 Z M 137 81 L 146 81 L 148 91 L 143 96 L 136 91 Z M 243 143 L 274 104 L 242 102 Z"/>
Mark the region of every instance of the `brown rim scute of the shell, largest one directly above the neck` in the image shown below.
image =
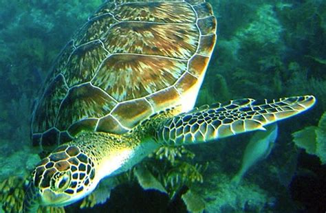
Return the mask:
<path id="1" fill-rule="evenodd" d="M 113 110 L 112 115 L 116 117 L 123 126 L 133 128 L 135 124 L 140 122 L 153 113 L 151 105 L 144 99 L 133 100 L 119 104 Z"/>

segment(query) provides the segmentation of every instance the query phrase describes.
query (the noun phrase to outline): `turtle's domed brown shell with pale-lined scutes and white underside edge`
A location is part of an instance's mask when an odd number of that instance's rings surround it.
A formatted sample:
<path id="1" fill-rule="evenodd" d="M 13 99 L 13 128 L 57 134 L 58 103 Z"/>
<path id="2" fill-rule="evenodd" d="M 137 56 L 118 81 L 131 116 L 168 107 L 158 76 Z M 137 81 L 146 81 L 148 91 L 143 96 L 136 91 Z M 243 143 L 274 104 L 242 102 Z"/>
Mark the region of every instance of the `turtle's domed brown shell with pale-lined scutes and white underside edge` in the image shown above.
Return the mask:
<path id="1" fill-rule="evenodd" d="M 67 43 L 32 114 L 34 145 L 80 131 L 122 134 L 153 113 L 195 98 L 215 45 L 202 0 L 108 1 Z"/>

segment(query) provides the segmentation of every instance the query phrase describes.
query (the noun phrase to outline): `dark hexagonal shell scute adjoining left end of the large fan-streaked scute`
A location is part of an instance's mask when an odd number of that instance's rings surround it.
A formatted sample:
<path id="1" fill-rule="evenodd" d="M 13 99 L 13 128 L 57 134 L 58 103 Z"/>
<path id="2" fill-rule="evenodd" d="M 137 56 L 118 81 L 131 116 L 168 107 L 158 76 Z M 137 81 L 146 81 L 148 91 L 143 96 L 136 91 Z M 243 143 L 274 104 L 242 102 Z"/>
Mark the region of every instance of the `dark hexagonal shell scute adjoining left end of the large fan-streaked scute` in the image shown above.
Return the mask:
<path id="1" fill-rule="evenodd" d="M 64 74 L 68 86 L 89 82 L 107 54 L 99 41 L 92 41 L 75 49 L 67 63 L 67 69 L 74 71 Z"/>

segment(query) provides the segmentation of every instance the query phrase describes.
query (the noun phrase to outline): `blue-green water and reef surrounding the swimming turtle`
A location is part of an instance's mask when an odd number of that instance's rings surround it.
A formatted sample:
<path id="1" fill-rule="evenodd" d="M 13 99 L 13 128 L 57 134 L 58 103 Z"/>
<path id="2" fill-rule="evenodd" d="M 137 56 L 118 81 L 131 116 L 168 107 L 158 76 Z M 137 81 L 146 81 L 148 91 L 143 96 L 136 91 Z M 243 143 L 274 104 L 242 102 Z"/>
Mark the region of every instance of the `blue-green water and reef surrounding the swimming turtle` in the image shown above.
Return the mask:
<path id="1" fill-rule="evenodd" d="M 237 185 L 231 179 L 254 133 L 157 150 L 138 170 L 103 181 L 65 210 L 47 212 L 186 212 L 192 205 L 199 212 L 325 212 L 326 2 L 208 2 L 218 38 L 197 105 L 312 94 L 313 109 L 279 122 L 274 148 Z M 30 141 L 36 93 L 65 43 L 102 1 L 0 3 L 0 212 L 19 212 L 24 179 L 39 161 Z M 141 166 L 165 192 L 142 189 Z M 190 190 L 196 199 L 182 198 Z"/>

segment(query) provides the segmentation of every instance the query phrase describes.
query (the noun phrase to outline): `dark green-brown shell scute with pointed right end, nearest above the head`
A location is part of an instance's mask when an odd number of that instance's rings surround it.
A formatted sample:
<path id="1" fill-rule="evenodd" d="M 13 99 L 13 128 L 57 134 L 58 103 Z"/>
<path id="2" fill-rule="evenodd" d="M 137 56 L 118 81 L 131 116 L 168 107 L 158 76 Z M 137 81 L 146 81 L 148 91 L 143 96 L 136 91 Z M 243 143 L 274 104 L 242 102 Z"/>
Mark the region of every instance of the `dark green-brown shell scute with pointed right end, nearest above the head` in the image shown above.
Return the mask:
<path id="1" fill-rule="evenodd" d="M 58 113 L 57 128 L 66 130 L 71 124 L 87 117 L 102 117 L 107 115 L 116 101 L 107 93 L 90 84 L 74 87 L 61 104 Z"/>

